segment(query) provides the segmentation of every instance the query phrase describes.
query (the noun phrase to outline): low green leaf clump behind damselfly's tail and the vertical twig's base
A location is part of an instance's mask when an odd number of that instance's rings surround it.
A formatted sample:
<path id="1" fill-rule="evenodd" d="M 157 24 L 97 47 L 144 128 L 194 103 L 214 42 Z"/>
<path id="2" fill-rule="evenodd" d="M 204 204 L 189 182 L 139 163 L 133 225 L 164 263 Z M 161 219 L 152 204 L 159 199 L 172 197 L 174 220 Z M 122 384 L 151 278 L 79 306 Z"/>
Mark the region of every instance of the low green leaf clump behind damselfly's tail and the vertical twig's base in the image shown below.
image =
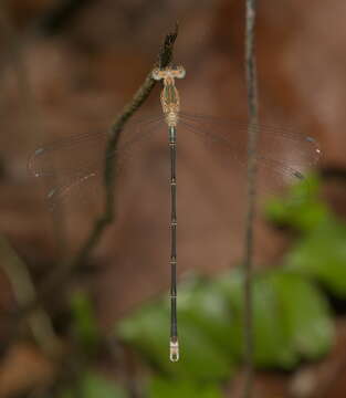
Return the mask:
<path id="1" fill-rule="evenodd" d="M 181 358 L 168 360 L 169 306 L 147 304 L 117 327 L 123 341 L 175 379 L 219 381 L 242 359 L 243 297 L 240 270 L 216 280 L 189 280 L 180 287 Z M 206 301 L 210 298 L 209 305 Z M 291 271 L 270 271 L 253 280 L 254 360 L 258 367 L 292 369 L 324 355 L 333 323 L 324 295 Z"/>

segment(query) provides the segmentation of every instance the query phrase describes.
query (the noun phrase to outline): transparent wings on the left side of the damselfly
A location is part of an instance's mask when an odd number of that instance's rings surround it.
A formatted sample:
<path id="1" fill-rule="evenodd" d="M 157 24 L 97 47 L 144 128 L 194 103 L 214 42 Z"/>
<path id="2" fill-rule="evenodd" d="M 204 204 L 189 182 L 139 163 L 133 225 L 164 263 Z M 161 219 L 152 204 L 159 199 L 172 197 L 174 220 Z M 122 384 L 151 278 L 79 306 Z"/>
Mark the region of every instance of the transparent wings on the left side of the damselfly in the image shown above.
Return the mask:
<path id="1" fill-rule="evenodd" d="M 117 149 L 108 156 L 112 161 L 116 159 L 116 171 L 132 157 L 136 145 L 155 132 L 161 119 L 161 116 L 135 119 L 125 126 Z M 44 179 L 51 208 L 86 182 L 102 179 L 107 140 L 106 133 L 85 133 L 43 145 L 32 154 L 28 161 L 29 171 Z"/>

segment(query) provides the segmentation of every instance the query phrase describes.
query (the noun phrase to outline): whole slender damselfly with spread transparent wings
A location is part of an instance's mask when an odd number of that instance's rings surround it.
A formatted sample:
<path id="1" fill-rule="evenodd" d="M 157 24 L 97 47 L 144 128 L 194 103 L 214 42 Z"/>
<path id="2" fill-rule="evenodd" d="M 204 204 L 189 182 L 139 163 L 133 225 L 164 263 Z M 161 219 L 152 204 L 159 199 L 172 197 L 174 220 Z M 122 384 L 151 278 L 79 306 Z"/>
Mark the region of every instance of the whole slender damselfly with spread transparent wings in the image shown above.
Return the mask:
<path id="1" fill-rule="evenodd" d="M 116 151 L 111 159 L 116 166 L 122 166 L 122 159 L 130 156 L 135 144 L 143 142 L 160 126 L 168 127 L 168 144 L 170 154 L 170 360 L 179 359 L 177 327 L 177 130 L 184 134 L 192 133 L 206 143 L 216 144 L 222 148 L 224 157 L 234 165 L 247 167 L 248 129 L 259 130 L 258 164 L 259 177 L 264 186 L 287 185 L 304 178 L 306 169 L 312 168 L 321 156 L 317 143 L 312 137 L 300 135 L 291 129 L 277 128 L 265 124 L 252 124 L 247 121 L 230 121 L 210 116 L 198 116 L 180 112 L 179 93 L 175 85 L 176 78 L 185 77 L 184 67 L 167 67 L 154 70 L 153 78 L 162 80 L 161 91 L 162 115 L 140 123 L 129 123 L 123 134 Z M 164 123 L 162 123 L 164 122 Z M 179 126 L 179 127 L 178 127 Z M 48 199 L 55 202 L 67 197 L 73 188 L 87 180 L 103 175 L 105 164 L 104 146 L 106 133 L 81 134 L 42 146 L 35 150 L 29 160 L 29 168 L 35 177 L 49 177 L 56 174 L 60 185 L 48 193 Z M 84 154 L 83 147 L 93 147 Z"/>

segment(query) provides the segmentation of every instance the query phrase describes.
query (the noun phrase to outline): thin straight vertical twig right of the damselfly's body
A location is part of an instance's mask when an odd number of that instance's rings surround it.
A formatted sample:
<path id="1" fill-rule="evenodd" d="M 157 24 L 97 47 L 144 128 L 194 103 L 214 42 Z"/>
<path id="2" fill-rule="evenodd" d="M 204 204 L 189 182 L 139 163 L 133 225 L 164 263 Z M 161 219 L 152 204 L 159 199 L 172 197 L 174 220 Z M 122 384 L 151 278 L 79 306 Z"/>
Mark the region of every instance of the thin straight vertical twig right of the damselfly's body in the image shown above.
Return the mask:
<path id="1" fill-rule="evenodd" d="M 256 197 L 256 143 L 258 129 L 258 82 L 254 51 L 255 0 L 245 0 L 245 72 L 248 90 L 248 209 L 245 219 L 243 259 L 244 300 L 244 388 L 243 398 L 251 398 L 253 391 L 253 325 L 252 325 L 252 269 L 253 269 L 253 223 Z"/>

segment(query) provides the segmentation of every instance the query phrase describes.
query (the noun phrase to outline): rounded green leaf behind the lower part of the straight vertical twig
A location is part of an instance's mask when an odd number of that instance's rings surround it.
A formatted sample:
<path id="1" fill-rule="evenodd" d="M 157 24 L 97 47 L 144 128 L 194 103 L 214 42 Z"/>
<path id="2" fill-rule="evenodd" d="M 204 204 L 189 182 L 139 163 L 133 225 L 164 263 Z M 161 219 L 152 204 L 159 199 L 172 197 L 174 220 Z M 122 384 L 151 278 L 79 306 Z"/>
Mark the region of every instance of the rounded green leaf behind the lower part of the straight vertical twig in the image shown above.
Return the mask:
<path id="1" fill-rule="evenodd" d="M 219 284 L 229 295 L 233 335 L 242 342 L 242 274 L 223 275 Z M 277 270 L 253 277 L 254 360 L 259 367 L 292 368 L 302 358 L 313 359 L 331 347 L 333 324 L 323 295 L 304 277 Z M 242 343 L 239 344 L 242 355 Z"/>

